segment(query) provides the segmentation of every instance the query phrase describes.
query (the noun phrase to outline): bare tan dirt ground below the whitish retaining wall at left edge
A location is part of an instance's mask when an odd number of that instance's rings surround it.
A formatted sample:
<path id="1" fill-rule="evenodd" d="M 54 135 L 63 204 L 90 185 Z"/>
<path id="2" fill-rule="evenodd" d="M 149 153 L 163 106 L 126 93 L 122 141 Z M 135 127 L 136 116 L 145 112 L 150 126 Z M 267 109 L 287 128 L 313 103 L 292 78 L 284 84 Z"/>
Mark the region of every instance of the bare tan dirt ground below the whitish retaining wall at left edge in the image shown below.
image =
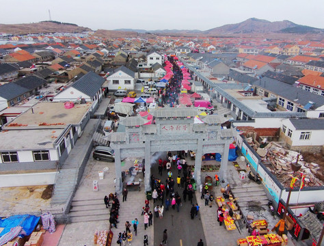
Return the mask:
<path id="1" fill-rule="evenodd" d="M 0 217 L 40 212 L 51 207 L 53 185 L 0 188 Z"/>

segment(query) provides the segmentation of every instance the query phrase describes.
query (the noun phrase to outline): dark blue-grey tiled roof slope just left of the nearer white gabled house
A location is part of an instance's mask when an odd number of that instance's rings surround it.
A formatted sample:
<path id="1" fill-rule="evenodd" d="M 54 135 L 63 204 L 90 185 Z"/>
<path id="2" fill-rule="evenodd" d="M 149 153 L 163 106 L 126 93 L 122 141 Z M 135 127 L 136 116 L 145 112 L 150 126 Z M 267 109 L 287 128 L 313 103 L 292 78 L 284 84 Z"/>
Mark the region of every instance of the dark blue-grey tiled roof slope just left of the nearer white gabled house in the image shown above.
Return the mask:
<path id="1" fill-rule="evenodd" d="M 103 77 L 94 72 L 88 72 L 81 79 L 75 81 L 72 87 L 90 96 L 90 98 L 94 98 L 104 82 L 105 79 Z"/>

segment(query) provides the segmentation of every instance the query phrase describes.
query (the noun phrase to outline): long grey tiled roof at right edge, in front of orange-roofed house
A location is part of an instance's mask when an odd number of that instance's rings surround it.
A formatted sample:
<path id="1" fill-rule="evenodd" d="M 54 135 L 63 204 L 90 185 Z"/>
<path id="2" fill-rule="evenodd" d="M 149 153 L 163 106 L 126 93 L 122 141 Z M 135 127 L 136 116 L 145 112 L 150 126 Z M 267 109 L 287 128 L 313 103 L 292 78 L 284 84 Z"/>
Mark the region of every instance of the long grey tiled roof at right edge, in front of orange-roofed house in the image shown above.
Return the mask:
<path id="1" fill-rule="evenodd" d="M 324 105 L 324 96 L 316 95 L 312 92 L 306 92 L 306 90 L 301 90 L 276 79 L 263 77 L 254 82 L 253 85 L 273 92 L 273 94 L 277 94 L 282 98 L 286 98 L 287 100 L 302 106 L 308 104 L 309 101 L 315 102 L 315 108 Z"/>

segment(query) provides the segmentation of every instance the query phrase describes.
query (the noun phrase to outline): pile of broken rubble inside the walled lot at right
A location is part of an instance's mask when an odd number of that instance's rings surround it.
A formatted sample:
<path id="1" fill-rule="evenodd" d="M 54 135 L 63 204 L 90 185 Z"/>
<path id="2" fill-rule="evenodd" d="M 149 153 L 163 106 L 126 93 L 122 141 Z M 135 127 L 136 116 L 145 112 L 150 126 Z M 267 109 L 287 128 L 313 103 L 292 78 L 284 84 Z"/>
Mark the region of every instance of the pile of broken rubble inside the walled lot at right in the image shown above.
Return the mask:
<path id="1" fill-rule="evenodd" d="M 253 145 L 252 139 L 249 139 L 249 143 L 256 149 L 256 152 L 262 159 L 262 163 L 265 164 L 267 169 L 274 174 L 278 180 L 284 185 L 289 187 L 291 182 L 291 176 L 294 175 L 297 178 L 301 178 L 301 173 L 305 174 L 305 186 L 323 186 L 323 182 L 316 178 L 315 174 L 319 172 L 321 167 L 316 163 L 308 163 L 303 160 L 303 156 L 299 152 L 293 150 L 286 150 L 280 144 L 271 141 L 265 148 L 260 148 L 257 145 Z M 300 165 L 299 171 L 295 172 L 291 167 L 292 163 Z"/>

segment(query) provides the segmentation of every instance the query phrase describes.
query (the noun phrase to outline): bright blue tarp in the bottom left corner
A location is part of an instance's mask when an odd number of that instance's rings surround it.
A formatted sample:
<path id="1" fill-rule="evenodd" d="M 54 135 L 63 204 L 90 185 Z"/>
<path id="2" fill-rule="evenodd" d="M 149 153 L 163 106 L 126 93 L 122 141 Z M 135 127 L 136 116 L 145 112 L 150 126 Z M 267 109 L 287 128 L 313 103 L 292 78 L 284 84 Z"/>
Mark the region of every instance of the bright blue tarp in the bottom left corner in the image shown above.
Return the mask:
<path id="1" fill-rule="evenodd" d="M 0 233 L 0 236 L 3 236 L 7 232 L 10 232 L 11 228 L 16 226 L 21 226 L 25 230 L 27 236 L 33 232 L 33 229 L 36 228 L 40 217 L 34 215 L 14 215 L 6 219 L 0 219 L 0 228 L 4 228 Z"/>

